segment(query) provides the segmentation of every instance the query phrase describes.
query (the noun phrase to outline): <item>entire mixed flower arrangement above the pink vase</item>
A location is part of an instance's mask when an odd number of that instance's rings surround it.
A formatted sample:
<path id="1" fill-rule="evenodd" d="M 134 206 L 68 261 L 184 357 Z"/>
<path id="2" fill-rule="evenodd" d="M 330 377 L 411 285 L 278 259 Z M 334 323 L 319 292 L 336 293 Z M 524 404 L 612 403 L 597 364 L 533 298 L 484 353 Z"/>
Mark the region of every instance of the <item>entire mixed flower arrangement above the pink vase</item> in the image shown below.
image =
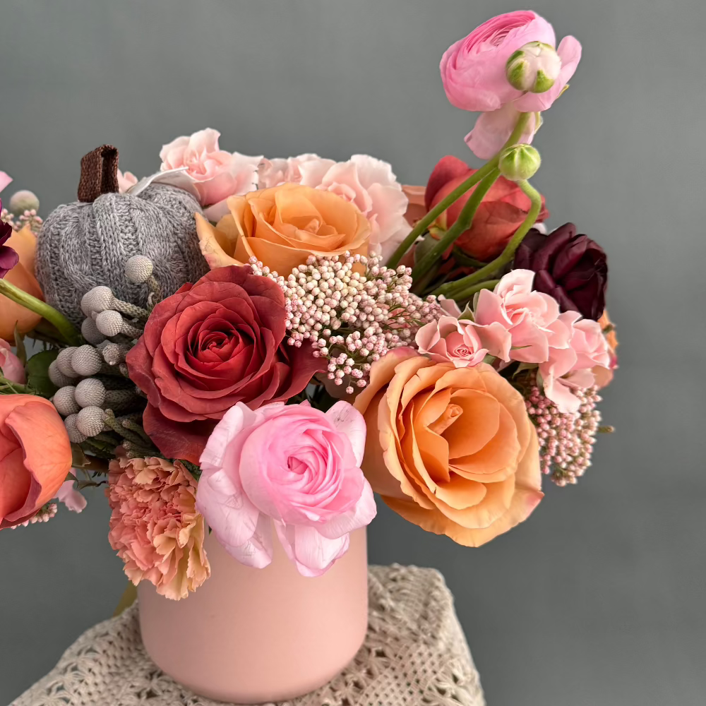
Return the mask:
<path id="1" fill-rule="evenodd" d="M 573 224 L 546 227 L 529 179 L 580 54 L 532 11 L 453 44 L 441 78 L 480 113 L 466 143 L 486 162 L 443 157 L 424 189 L 368 155 L 247 157 L 206 129 L 145 179 L 108 145 L 86 155 L 79 201 L 46 222 L 16 193 L 0 224 L 0 528 L 105 486 L 128 578 L 179 599 L 209 578 L 208 532 L 256 568 L 279 542 L 314 577 L 371 522 L 373 493 L 479 546 L 527 519 L 543 475 L 575 484 L 611 431 L 608 267 Z M 56 245 L 71 228 L 90 229 L 74 239 L 87 252 Z"/>

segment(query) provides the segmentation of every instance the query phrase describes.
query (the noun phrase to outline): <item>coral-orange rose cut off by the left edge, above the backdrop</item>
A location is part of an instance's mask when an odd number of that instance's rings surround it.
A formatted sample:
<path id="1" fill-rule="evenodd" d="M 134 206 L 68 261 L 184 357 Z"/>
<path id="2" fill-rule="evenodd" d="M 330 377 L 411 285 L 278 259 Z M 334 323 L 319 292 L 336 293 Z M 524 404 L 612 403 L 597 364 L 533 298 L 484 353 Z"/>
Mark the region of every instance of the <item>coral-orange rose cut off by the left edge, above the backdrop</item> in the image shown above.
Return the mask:
<path id="1" fill-rule="evenodd" d="M 0 395 L 0 530 L 56 497 L 71 469 L 64 421 L 49 400 Z"/>

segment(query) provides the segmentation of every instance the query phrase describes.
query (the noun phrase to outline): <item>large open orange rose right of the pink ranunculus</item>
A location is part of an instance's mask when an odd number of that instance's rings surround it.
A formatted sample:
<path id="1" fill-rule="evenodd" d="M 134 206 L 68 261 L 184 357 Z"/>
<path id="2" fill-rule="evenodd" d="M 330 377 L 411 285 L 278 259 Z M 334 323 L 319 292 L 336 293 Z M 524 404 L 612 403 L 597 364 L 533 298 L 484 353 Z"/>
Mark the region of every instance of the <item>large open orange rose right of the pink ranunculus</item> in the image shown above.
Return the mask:
<path id="1" fill-rule="evenodd" d="M 454 368 L 398 348 L 373 364 L 354 407 L 368 427 L 362 469 L 373 491 L 428 532 L 479 546 L 542 500 L 525 402 L 489 365 Z"/>

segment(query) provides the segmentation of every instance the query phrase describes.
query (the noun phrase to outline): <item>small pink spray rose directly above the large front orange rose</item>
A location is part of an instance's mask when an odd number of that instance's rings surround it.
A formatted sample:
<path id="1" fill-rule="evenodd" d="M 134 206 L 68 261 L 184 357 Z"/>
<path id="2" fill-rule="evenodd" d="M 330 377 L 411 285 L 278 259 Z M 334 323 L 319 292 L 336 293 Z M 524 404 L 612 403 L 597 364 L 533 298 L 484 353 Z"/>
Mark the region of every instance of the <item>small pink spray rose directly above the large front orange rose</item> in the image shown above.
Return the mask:
<path id="1" fill-rule="evenodd" d="M 488 353 L 477 328 L 470 321 L 441 316 L 417 331 L 417 348 L 438 363 L 451 362 L 456 368 L 478 365 Z"/>

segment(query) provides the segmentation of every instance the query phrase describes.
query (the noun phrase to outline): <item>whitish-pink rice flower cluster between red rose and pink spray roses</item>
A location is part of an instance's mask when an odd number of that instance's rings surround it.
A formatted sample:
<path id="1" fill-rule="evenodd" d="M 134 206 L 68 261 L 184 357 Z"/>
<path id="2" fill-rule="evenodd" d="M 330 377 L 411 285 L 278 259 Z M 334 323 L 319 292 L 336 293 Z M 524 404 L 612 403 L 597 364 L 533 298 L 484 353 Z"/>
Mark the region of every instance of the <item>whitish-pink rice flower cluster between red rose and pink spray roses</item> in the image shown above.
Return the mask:
<path id="1" fill-rule="evenodd" d="M 253 273 L 275 280 L 285 293 L 289 345 L 310 342 L 313 355 L 328 361 L 328 379 L 347 385 L 349 395 L 365 387 L 371 364 L 414 345 L 417 330 L 443 315 L 434 297 L 409 292 L 409 268 L 386 268 L 381 259 L 310 256 L 286 278 L 250 261 Z"/>

